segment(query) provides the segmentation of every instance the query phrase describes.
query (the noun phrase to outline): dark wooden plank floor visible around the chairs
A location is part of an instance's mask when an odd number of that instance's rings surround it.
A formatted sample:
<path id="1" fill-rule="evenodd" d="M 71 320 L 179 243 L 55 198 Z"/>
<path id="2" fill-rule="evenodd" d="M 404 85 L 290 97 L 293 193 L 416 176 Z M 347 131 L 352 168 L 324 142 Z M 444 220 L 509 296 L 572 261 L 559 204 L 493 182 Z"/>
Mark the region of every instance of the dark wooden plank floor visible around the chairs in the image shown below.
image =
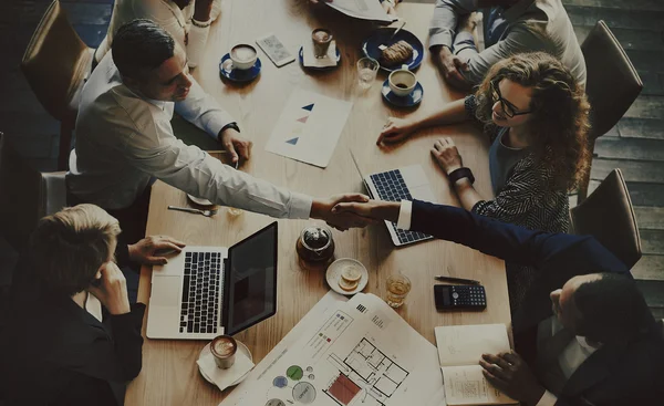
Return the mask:
<path id="1" fill-rule="evenodd" d="M 434 0 L 405 0 L 433 3 Z M 62 0 L 71 22 L 90 46 L 106 32 L 113 0 Z M 613 31 L 644 82 L 639 100 L 595 146 L 591 190 L 613 169 L 627 181 L 643 243 L 634 267 L 650 304 L 664 316 L 664 1 L 562 0 L 580 41 L 598 20 Z M 39 104 L 19 63 L 49 0 L 0 0 L 0 132 L 35 168 L 54 170 L 59 124 Z M 0 191 L 4 192 L 4 191 Z M 15 254 L 0 240 L 2 271 Z"/>

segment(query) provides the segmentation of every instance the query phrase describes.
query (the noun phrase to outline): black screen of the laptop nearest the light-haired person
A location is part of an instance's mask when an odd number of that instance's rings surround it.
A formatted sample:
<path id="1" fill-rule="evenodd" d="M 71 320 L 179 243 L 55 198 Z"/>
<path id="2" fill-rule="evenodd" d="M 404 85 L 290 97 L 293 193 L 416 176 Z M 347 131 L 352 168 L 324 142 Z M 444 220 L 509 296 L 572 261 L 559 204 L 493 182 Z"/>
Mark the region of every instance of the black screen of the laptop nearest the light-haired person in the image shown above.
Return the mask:
<path id="1" fill-rule="evenodd" d="M 225 334 L 234 335 L 277 313 L 277 221 L 228 249 Z M 230 270 L 230 272 L 228 272 Z"/>

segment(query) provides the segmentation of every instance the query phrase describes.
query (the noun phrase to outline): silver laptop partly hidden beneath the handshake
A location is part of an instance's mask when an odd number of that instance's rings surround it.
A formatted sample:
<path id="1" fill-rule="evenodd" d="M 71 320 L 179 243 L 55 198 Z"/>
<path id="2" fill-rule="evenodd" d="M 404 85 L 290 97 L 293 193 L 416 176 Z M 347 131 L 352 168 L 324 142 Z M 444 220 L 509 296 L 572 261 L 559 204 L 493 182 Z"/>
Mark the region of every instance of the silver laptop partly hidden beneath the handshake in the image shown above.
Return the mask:
<path id="1" fill-rule="evenodd" d="M 357 168 L 362 183 L 372 199 L 384 201 L 402 201 L 403 199 L 435 201 L 434 192 L 421 165 L 411 165 L 394 170 L 364 176 L 362 175 L 360 165 L 357 165 L 357 160 L 352 152 L 351 157 L 353 158 L 355 168 Z M 392 243 L 396 247 L 430 240 L 433 238 L 423 232 L 402 230 L 392 221 L 385 221 L 385 226 L 387 226 L 387 232 L 390 232 Z"/>

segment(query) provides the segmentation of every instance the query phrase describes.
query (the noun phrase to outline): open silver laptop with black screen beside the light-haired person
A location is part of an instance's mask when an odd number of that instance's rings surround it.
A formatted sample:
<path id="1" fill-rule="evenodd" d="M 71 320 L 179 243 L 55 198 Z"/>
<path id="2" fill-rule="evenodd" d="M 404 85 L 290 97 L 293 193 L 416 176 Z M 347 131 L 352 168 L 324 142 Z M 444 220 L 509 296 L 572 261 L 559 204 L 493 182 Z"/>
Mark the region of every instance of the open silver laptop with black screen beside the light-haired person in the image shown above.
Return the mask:
<path id="1" fill-rule="evenodd" d="M 211 340 L 277 313 L 277 222 L 230 248 L 186 247 L 154 267 L 149 339 Z"/>

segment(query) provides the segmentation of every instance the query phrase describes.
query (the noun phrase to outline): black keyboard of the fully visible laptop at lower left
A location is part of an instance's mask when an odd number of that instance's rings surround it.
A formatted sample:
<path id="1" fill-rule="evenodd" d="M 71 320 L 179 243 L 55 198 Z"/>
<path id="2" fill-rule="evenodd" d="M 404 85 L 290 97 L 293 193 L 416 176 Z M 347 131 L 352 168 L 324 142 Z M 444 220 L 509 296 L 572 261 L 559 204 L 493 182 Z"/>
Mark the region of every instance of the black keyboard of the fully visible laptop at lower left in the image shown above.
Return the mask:
<path id="1" fill-rule="evenodd" d="M 221 263 L 219 252 L 186 252 L 180 333 L 217 333 L 224 291 Z"/>

